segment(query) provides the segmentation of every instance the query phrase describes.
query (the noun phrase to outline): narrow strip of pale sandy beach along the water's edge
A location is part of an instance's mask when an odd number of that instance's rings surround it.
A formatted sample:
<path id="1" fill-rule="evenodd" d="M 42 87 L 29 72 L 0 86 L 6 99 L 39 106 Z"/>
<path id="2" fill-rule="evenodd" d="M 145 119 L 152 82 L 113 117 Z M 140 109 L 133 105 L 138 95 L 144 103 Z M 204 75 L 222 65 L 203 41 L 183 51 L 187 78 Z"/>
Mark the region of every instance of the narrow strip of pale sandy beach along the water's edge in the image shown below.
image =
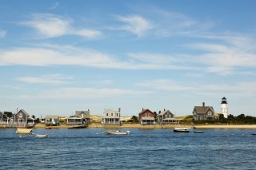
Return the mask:
<path id="1" fill-rule="evenodd" d="M 60 126 L 49 126 L 50 128 L 68 128 L 66 125 Z M 88 128 L 193 128 L 192 125 L 139 125 L 139 124 L 124 124 L 120 125 L 101 125 L 101 124 L 91 124 Z M 4 127 L 0 127 L 4 128 Z M 46 128 L 44 125 L 35 125 L 34 128 Z M 194 125 L 194 128 L 237 128 L 237 129 L 256 129 L 256 125 Z"/>

